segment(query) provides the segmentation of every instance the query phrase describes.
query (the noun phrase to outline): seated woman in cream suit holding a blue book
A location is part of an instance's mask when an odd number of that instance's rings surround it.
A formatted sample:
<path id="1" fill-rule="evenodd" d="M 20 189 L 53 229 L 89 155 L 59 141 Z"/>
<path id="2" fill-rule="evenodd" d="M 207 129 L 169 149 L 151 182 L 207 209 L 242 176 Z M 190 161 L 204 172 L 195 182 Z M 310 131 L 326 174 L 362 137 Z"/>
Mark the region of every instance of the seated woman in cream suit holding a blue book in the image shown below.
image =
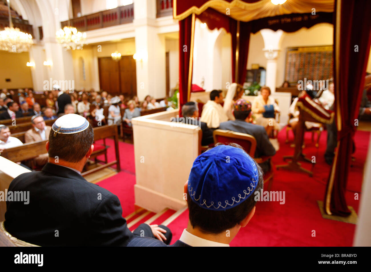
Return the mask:
<path id="1" fill-rule="evenodd" d="M 262 87 L 260 95 L 255 98 L 251 108 L 256 124 L 265 127 L 268 135 L 273 129 L 279 130 L 280 128 L 275 119 L 276 113 L 279 113 L 279 107 L 270 94 L 269 87 Z"/>

